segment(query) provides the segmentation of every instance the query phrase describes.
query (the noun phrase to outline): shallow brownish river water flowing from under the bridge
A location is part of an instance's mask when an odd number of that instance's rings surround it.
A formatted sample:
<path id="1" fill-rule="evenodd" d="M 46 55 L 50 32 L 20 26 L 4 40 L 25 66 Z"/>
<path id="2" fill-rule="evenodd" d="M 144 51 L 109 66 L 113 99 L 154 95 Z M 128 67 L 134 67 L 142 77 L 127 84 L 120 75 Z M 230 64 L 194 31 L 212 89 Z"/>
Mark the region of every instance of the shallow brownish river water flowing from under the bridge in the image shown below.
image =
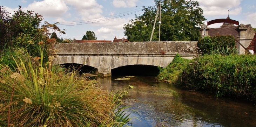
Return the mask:
<path id="1" fill-rule="evenodd" d="M 132 119 L 133 127 L 256 127 L 254 104 L 214 95 L 186 91 L 168 83 L 159 82 L 155 76 L 135 76 L 130 80 L 119 77 L 99 77 L 101 87 L 117 92 L 128 85 L 123 98 Z M 134 112 L 136 110 L 137 112 Z"/>

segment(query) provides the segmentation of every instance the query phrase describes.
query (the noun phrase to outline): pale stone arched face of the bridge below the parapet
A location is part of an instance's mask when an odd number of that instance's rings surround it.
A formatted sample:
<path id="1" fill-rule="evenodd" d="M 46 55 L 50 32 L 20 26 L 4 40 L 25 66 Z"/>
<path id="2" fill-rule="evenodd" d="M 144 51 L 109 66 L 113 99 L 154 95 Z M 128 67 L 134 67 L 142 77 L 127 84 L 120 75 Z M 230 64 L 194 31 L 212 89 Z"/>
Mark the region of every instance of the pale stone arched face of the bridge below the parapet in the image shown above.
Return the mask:
<path id="1" fill-rule="evenodd" d="M 152 65 L 165 68 L 174 56 L 58 56 L 54 64 L 83 64 L 98 69 L 103 76 L 111 76 L 111 70 L 127 65 Z"/>

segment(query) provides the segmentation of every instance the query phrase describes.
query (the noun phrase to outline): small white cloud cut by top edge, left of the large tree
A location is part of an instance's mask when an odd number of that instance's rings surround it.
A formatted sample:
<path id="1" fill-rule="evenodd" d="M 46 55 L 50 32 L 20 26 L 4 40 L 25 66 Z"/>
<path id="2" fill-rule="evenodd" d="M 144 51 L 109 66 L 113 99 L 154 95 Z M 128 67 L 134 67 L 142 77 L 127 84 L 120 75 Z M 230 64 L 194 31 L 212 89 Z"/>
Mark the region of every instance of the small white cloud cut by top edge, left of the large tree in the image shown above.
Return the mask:
<path id="1" fill-rule="evenodd" d="M 124 7 L 124 8 L 129 8 L 129 7 L 135 7 L 136 2 L 139 0 L 113 0 L 113 5 L 114 7 Z"/>

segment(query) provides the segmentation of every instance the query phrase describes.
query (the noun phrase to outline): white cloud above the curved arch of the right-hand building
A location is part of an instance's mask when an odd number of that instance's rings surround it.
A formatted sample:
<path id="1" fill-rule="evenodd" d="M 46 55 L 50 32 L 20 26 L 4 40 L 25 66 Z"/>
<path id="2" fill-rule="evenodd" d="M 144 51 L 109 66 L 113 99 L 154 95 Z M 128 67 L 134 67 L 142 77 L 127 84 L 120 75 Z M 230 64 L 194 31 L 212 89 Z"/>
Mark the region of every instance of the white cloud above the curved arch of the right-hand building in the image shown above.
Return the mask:
<path id="1" fill-rule="evenodd" d="M 218 16 L 229 14 L 238 15 L 242 12 L 239 7 L 241 0 L 196 0 L 203 9 L 204 16 Z"/>

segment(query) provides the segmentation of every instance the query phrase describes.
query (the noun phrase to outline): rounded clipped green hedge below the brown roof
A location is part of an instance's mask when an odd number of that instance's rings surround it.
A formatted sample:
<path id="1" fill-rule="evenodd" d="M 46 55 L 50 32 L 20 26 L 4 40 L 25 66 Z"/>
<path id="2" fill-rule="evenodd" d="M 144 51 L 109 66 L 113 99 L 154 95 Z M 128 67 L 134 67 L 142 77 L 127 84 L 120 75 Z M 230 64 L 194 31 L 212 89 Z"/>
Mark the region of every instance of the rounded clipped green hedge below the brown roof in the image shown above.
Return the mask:
<path id="1" fill-rule="evenodd" d="M 233 36 L 207 36 L 204 37 L 203 39 L 201 38 L 198 43 L 197 46 L 200 48 L 201 52 L 203 52 L 203 54 L 211 54 L 211 52 L 213 52 L 217 47 L 223 47 L 224 49 L 231 49 L 229 51 L 231 51 L 230 53 L 235 53 L 236 54 L 236 50 L 235 50 L 235 38 Z"/>

